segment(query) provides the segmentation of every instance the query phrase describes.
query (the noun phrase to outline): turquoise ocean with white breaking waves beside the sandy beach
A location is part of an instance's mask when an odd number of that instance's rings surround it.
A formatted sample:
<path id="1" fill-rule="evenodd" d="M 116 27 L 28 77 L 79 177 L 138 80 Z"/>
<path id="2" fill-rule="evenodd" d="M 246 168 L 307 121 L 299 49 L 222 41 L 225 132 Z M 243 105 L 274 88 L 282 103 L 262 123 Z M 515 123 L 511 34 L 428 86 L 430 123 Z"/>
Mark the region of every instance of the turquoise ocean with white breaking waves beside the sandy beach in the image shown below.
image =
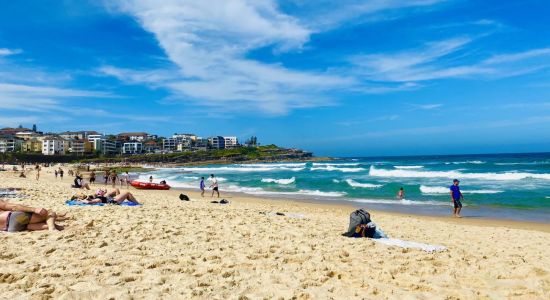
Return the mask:
<path id="1" fill-rule="evenodd" d="M 460 180 L 463 215 L 550 222 L 550 153 L 357 157 L 307 163 L 163 168 L 141 174 L 174 188 L 198 189 L 218 177 L 220 191 L 348 203 L 406 213 L 449 215 L 449 186 Z M 207 183 L 208 186 L 208 183 Z M 403 187 L 405 199 L 396 195 Z"/>

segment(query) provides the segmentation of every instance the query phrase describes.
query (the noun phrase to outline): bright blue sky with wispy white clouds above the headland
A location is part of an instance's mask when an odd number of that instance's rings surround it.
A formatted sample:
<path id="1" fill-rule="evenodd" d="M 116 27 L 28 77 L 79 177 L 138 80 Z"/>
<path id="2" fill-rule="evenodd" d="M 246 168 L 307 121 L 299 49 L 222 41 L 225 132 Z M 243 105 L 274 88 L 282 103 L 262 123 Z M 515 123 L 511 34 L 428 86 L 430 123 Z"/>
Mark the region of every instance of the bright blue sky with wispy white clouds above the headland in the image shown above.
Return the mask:
<path id="1" fill-rule="evenodd" d="M 550 151 L 547 1 L 0 1 L 0 126 Z"/>

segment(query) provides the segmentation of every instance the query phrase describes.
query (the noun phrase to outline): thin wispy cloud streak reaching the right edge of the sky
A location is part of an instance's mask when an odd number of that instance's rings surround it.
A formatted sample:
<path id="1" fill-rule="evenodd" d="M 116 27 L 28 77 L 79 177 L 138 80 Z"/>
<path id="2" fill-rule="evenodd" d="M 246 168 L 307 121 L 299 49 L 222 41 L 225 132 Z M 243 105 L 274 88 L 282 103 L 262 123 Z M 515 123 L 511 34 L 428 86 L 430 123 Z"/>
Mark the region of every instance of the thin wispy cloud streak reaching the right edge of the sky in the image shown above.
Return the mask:
<path id="1" fill-rule="evenodd" d="M 358 55 L 352 58 L 352 63 L 358 76 L 378 82 L 421 82 L 473 76 L 505 78 L 550 67 L 550 48 L 492 55 L 481 60 L 477 58 L 477 62 L 472 63 L 464 59 L 463 52 L 473 41 L 461 37 L 397 53 Z"/>

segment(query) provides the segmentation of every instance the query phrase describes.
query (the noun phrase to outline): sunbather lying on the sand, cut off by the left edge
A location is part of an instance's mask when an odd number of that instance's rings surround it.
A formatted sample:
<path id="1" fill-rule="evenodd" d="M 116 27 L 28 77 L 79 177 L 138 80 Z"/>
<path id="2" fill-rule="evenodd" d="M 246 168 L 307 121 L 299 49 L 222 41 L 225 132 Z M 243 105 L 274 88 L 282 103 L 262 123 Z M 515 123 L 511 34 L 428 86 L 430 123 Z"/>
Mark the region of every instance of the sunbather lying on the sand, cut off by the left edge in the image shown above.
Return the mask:
<path id="1" fill-rule="evenodd" d="M 58 215 L 44 208 L 35 208 L 20 204 L 8 203 L 0 200 L 0 229 L 7 232 L 62 230 L 63 227 L 55 221 L 66 219 L 65 215 Z"/>

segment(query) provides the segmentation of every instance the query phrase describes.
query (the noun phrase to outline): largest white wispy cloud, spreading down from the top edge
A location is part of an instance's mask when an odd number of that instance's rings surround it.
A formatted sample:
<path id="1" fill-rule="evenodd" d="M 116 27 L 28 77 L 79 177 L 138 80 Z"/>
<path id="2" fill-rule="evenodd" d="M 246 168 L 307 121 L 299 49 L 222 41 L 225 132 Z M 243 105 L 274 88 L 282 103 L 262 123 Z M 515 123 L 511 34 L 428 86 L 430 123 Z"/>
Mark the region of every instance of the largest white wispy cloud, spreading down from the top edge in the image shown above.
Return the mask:
<path id="1" fill-rule="evenodd" d="M 327 105 L 323 91 L 354 84 L 353 78 L 323 70 L 293 70 L 247 58 L 264 46 L 300 51 L 309 40 L 311 30 L 274 1 L 164 1 L 159 6 L 152 0 L 121 0 L 109 7 L 132 15 L 153 33 L 174 69 L 169 74 L 114 66 L 100 70 L 124 82 L 164 87 L 182 101 L 284 114 Z"/>

